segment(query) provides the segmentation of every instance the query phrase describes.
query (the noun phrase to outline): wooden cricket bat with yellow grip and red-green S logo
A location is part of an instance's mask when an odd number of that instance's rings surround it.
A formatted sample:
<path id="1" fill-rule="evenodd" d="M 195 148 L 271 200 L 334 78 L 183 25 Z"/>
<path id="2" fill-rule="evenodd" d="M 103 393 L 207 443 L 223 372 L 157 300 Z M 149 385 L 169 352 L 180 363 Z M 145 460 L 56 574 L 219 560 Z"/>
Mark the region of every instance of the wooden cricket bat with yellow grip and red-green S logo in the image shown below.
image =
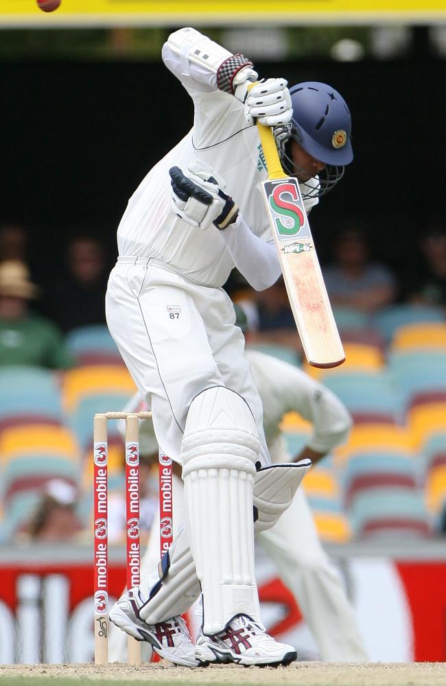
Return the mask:
<path id="1" fill-rule="evenodd" d="M 288 299 L 305 356 L 314 367 L 345 359 L 298 180 L 282 169 L 274 135 L 257 122 L 268 180 L 261 182 Z"/>

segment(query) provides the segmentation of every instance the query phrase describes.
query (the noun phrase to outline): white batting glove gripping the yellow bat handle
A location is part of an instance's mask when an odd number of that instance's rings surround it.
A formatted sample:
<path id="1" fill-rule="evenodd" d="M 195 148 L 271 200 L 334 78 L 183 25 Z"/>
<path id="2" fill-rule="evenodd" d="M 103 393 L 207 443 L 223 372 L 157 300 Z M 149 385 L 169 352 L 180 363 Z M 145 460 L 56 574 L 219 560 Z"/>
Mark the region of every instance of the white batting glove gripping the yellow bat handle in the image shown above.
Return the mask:
<path id="1" fill-rule="evenodd" d="M 267 79 L 249 88 L 244 111 L 249 124 L 257 119 L 264 126 L 280 126 L 290 121 L 292 113 L 285 79 Z"/>

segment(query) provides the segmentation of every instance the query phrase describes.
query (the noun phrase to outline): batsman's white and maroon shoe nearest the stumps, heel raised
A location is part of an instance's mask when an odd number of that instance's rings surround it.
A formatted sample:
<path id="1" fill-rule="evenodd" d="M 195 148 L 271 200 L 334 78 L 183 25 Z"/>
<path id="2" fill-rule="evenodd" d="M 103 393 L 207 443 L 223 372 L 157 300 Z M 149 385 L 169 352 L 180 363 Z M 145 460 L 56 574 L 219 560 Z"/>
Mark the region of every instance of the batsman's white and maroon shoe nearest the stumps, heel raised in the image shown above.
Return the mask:
<path id="1" fill-rule="evenodd" d="M 183 617 L 172 617 L 159 624 L 147 624 L 139 616 L 143 602 L 137 587 L 121 595 L 110 610 L 110 621 L 137 641 L 148 641 L 153 650 L 169 662 L 183 667 L 198 667 L 195 646 Z"/>

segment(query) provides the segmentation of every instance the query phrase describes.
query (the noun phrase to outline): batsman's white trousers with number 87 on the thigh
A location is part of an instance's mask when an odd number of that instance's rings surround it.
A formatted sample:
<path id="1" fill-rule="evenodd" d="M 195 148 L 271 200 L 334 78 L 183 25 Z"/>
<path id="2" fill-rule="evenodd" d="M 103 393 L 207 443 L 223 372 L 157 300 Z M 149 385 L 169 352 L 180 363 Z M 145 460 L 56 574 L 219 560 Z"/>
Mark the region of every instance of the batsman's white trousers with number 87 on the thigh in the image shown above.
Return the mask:
<path id="1" fill-rule="evenodd" d="M 119 257 L 108 279 L 106 318 L 167 455 L 181 462 L 193 398 L 225 386 L 248 403 L 261 440 L 259 459 L 262 466 L 270 464 L 244 336 L 222 288 L 189 281 L 147 257 Z"/>

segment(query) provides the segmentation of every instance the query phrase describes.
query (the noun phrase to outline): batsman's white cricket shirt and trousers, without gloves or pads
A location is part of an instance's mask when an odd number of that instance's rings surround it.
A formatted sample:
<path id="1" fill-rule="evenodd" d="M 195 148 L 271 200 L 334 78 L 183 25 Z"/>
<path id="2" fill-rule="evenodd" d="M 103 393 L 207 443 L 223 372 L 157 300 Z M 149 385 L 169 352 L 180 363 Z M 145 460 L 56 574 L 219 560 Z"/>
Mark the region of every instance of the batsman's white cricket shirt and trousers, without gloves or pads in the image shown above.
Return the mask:
<path id="1" fill-rule="evenodd" d="M 209 41 L 210 50 L 212 45 Z M 218 91 L 215 73 L 176 56 L 169 42 L 163 60 L 193 100 L 193 128 L 128 202 L 117 231 L 119 257 L 108 281 L 108 328 L 152 409 L 156 436 L 169 456 L 181 459 L 192 399 L 206 388 L 225 386 L 253 412 L 265 465 L 270 458 L 261 402 L 243 335 L 234 326 L 233 305 L 222 289 L 235 266 L 257 289 L 272 285 L 280 274 L 257 188 L 267 176 L 257 128 L 246 123 L 241 102 Z M 239 205 L 237 222 L 224 231 L 193 228 L 169 208 L 169 168 L 186 171 L 191 161 L 215 169 Z M 316 202 L 307 202 L 307 211 Z"/>

